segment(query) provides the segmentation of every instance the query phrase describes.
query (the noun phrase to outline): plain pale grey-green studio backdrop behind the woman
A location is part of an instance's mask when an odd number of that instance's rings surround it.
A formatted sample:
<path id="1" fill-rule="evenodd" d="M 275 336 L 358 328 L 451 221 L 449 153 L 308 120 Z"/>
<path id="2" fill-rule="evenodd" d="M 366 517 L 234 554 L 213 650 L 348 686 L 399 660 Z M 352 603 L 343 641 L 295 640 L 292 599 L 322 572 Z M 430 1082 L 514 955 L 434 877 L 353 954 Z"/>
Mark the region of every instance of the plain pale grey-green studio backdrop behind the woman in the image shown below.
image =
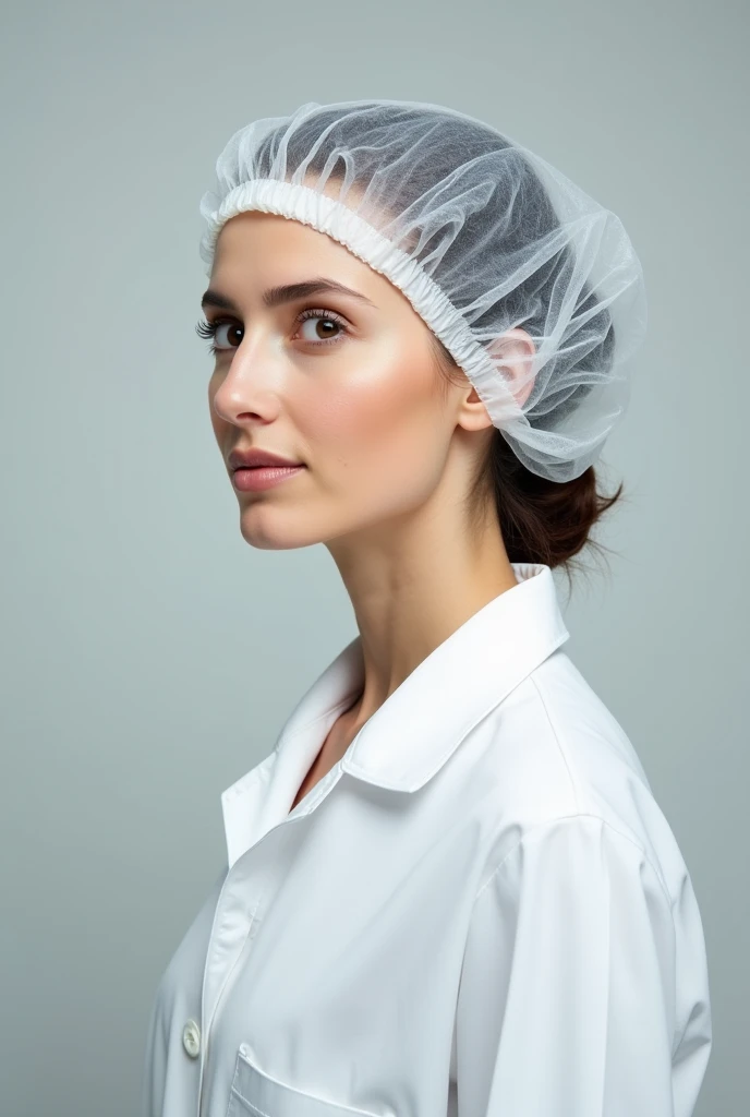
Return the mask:
<path id="1" fill-rule="evenodd" d="M 744 3 L 26 2 L 0 30 L 3 1117 L 136 1113 L 157 981 L 225 856 L 220 793 L 356 633 L 324 546 L 243 542 L 193 327 L 230 134 L 368 96 L 494 124 L 643 260 L 602 475 L 628 502 L 608 566 L 558 588 L 699 898 L 696 1114 L 747 1113 Z"/>

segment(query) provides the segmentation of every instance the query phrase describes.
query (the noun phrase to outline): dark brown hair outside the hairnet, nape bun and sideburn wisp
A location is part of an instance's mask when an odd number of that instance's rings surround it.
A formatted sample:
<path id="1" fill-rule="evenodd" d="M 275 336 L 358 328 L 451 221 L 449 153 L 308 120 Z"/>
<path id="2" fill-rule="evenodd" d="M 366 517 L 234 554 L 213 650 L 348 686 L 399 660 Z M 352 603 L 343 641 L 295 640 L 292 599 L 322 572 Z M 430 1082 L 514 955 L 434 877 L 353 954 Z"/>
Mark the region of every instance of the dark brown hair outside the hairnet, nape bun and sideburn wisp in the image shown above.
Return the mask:
<path id="1" fill-rule="evenodd" d="M 455 363 L 443 343 L 431 334 L 438 369 L 446 383 L 454 382 Z M 465 374 L 461 374 L 465 382 Z M 510 562 L 545 563 L 561 567 L 570 585 L 573 569 L 585 570 L 574 560 L 584 547 L 600 554 L 610 551 L 592 538 L 597 521 L 623 498 L 621 481 L 612 496 L 599 493 L 594 466 L 568 481 L 554 481 L 531 472 L 516 457 L 497 427 L 490 448 L 467 495 L 469 524 L 475 528 L 487 512 L 487 500 L 494 500 L 502 541 Z M 623 498 L 627 499 L 627 498 Z"/>

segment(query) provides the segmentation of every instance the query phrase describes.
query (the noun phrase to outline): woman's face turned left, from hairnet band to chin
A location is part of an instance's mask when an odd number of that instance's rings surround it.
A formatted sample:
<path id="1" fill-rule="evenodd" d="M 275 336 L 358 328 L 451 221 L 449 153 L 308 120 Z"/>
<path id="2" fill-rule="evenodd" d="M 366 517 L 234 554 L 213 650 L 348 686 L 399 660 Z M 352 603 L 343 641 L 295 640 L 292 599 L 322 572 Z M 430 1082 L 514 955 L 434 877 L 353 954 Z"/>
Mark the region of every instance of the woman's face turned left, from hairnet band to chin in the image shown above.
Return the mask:
<path id="1" fill-rule="evenodd" d="M 318 279 L 354 294 L 270 305 L 273 288 Z M 273 550 L 379 533 L 430 500 L 458 397 L 427 326 L 390 280 L 325 233 L 252 211 L 223 226 L 210 292 L 232 304 L 204 302 L 219 350 L 209 405 L 224 461 L 258 448 L 305 466 L 261 491 L 234 488 L 248 543 Z"/>

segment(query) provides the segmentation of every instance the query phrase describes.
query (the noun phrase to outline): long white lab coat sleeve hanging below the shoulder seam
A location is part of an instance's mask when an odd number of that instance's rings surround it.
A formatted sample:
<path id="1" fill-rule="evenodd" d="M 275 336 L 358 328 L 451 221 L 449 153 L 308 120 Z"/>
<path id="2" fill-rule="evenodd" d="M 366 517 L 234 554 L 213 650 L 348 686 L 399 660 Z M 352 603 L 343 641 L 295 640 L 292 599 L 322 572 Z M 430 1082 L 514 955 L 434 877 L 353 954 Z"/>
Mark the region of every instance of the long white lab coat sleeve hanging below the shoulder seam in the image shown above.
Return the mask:
<path id="1" fill-rule="evenodd" d="M 645 852 L 595 815 L 532 828 L 474 900 L 459 1117 L 689 1117 L 675 1039 L 672 908 Z"/>

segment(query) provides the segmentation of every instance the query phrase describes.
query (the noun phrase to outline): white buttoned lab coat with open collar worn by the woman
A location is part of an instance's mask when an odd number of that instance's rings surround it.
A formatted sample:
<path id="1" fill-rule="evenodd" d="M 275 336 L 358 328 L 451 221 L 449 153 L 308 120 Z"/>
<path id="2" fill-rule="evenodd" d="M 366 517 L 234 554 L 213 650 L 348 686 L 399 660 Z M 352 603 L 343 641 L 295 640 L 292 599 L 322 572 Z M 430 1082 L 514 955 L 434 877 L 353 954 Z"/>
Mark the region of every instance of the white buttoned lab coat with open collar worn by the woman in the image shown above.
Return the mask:
<path id="1" fill-rule="evenodd" d="M 143 1117 L 690 1117 L 691 878 L 561 650 L 550 569 L 513 567 L 291 813 L 358 637 L 223 792 L 228 867 L 158 985 Z"/>

